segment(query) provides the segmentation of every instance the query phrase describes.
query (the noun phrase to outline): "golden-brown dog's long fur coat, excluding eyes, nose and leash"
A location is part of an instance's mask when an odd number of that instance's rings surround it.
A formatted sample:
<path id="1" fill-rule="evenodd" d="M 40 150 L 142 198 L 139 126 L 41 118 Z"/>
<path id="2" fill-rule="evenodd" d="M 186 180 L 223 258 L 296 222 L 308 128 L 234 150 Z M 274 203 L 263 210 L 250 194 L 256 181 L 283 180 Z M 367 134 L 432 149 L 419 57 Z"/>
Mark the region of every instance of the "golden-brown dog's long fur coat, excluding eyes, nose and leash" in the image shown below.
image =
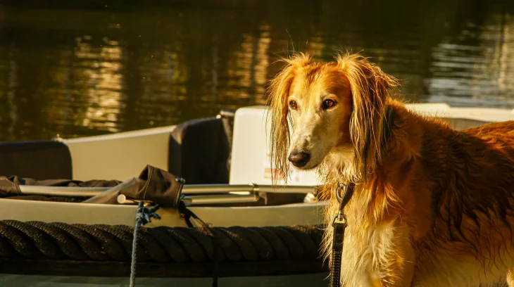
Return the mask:
<path id="1" fill-rule="evenodd" d="M 395 99 L 396 79 L 358 54 L 285 61 L 269 89 L 272 165 L 288 174 L 290 152 L 312 153 L 303 168 L 325 179 L 327 257 L 335 186 L 356 182 L 346 286 L 514 287 L 514 122 L 457 131 L 414 113 Z M 317 108 L 320 95 L 337 109 Z"/>

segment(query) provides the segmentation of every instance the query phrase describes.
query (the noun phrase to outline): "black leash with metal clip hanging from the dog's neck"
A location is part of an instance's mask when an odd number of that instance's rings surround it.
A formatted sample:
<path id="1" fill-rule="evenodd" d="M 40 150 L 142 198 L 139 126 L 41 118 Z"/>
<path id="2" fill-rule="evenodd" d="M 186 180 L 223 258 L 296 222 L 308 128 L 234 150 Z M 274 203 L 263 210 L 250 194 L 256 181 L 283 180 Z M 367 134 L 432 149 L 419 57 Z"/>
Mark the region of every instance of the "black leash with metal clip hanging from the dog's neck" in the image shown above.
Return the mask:
<path id="1" fill-rule="evenodd" d="M 341 196 L 341 190 L 344 194 Z M 348 220 L 344 215 L 344 207 L 349 203 L 351 196 L 355 191 L 355 184 L 350 182 L 347 186 L 339 184 L 337 186 L 336 198 L 339 201 L 339 210 L 337 210 L 332 219 L 332 228 L 334 228 L 334 241 L 332 241 L 332 272 L 330 276 L 330 286 L 341 286 L 341 257 L 343 255 L 344 229 L 348 226 Z"/>

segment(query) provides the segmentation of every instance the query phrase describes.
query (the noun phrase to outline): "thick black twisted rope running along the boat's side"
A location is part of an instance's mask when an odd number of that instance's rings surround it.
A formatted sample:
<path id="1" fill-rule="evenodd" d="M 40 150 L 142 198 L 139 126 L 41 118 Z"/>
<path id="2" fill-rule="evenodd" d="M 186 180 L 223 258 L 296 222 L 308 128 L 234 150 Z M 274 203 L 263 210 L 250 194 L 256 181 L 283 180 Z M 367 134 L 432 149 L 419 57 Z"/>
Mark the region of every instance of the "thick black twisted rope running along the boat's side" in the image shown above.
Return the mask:
<path id="1" fill-rule="evenodd" d="M 140 227 L 138 262 L 213 262 L 202 228 Z M 0 221 L 0 259 L 130 262 L 134 229 L 125 225 Z M 318 260 L 322 228 L 212 227 L 219 262 Z"/>

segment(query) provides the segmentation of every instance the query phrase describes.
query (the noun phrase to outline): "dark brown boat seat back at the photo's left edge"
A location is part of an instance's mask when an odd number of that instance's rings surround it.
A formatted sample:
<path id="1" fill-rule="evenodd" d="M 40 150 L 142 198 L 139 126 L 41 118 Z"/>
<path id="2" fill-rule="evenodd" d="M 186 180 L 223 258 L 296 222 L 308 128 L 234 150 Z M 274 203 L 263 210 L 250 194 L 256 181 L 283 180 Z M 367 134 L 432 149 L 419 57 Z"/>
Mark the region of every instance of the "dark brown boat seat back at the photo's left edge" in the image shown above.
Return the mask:
<path id="1" fill-rule="evenodd" d="M 72 179 L 68 146 L 60 141 L 0 143 L 0 176 L 31 179 Z"/>

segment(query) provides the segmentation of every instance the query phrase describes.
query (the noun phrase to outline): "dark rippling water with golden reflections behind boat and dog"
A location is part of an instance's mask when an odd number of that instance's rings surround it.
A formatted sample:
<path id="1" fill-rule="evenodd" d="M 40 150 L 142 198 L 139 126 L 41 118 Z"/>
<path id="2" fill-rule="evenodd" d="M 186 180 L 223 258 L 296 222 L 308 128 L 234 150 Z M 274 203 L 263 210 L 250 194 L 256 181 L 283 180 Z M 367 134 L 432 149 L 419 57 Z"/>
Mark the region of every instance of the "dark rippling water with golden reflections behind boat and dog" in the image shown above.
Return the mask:
<path id="1" fill-rule="evenodd" d="M 0 0 L 1 141 L 261 105 L 292 44 L 363 51 L 413 101 L 514 108 L 512 0 L 123 2 Z"/>

